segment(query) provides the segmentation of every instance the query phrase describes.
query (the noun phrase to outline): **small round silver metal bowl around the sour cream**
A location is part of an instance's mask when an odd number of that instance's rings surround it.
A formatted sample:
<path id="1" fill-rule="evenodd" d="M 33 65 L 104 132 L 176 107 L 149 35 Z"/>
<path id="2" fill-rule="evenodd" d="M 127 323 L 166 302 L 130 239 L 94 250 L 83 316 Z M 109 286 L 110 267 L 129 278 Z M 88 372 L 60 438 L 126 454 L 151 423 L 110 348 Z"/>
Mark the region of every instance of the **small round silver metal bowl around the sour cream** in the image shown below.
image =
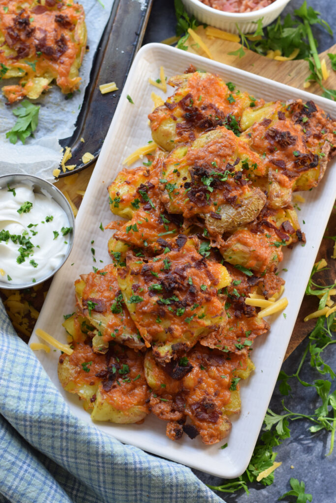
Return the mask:
<path id="1" fill-rule="evenodd" d="M 40 283 L 43 283 L 43 281 L 46 281 L 47 279 L 51 278 L 57 271 L 62 267 L 66 259 L 68 259 L 70 252 L 72 250 L 72 247 L 74 245 L 74 238 L 75 238 L 75 217 L 73 210 L 71 209 L 70 204 L 68 203 L 68 200 L 66 200 L 65 196 L 58 190 L 54 185 L 52 185 L 50 182 L 47 182 L 46 180 L 43 180 L 43 178 L 35 177 L 33 175 L 23 175 L 22 173 L 15 173 L 13 175 L 2 175 L 0 176 L 0 188 L 7 187 L 7 184 L 10 186 L 15 185 L 15 184 L 20 184 L 20 183 L 25 183 L 28 182 L 32 184 L 33 190 L 35 193 L 42 193 L 43 191 L 47 192 L 52 199 L 60 206 L 60 208 L 64 211 L 66 216 L 68 217 L 69 220 L 69 225 L 73 228 L 73 231 L 69 234 L 68 237 L 68 249 L 66 250 L 66 254 L 63 257 L 63 259 L 59 262 L 58 266 L 53 269 L 51 272 L 43 276 L 42 278 L 36 280 L 36 282 L 29 282 L 29 283 L 21 283 L 21 284 L 11 284 L 11 283 L 5 283 L 4 281 L 1 281 L 1 276 L 0 276 L 0 288 L 8 289 L 8 290 L 20 290 L 22 288 L 30 288 L 35 285 L 38 285 Z M 0 266 L 1 266 L 1 257 L 0 257 Z"/>

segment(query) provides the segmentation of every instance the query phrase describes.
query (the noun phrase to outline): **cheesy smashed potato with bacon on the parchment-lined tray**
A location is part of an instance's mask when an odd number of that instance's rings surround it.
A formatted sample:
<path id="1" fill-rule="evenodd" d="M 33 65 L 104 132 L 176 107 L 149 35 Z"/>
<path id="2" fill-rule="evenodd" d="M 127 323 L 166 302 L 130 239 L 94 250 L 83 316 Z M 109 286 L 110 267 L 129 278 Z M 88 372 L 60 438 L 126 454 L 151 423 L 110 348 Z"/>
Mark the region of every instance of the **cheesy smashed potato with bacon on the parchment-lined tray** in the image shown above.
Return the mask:
<path id="1" fill-rule="evenodd" d="M 76 91 L 86 40 L 84 10 L 74 0 L 0 0 L 1 75 L 20 78 L 3 87 L 8 101 L 37 99 L 54 79 L 62 93 Z"/>

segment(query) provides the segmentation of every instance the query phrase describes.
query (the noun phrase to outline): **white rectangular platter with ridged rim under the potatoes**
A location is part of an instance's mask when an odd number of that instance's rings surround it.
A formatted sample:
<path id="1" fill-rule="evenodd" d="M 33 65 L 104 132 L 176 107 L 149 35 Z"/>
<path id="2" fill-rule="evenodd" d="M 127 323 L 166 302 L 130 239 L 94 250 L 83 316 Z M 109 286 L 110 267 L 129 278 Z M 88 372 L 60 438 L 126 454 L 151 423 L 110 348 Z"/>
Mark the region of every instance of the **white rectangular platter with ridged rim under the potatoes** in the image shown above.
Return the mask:
<path id="1" fill-rule="evenodd" d="M 152 111 L 151 92 L 164 97 L 160 90 L 148 83 L 148 78 L 156 79 L 160 65 L 164 66 L 168 77 L 183 73 L 192 63 L 196 68 L 219 74 L 224 81 L 234 82 L 242 91 L 264 98 L 265 101 L 302 98 L 314 100 L 333 117 L 336 104 L 309 93 L 282 85 L 281 83 L 226 66 L 209 59 L 174 49 L 163 44 L 149 44 L 137 54 L 130 69 L 119 105 L 107 133 L 97 165 L 92 174 L 81 208 L 76 219 L 75 244 L 73 251 L 61 270 L 56 274 L 50 287 L 36 327 L 49 332 L 61 342 L 66 341 L 62 328 L 63 314 L 75 310 L 74 281 L 82 273 L 92 271 L 92 266 L 103 267 L 110 263 L 107 241 L 110 231 L 102 232 L 100 222 L 106 225 L 114 219 L 108 206 L 107 187 L 122 167 L 122 160 L 136 148 L 151 139 L 147 115 Z M 111 75 L 112 79 L 113 75 Z M 172 94 L 168 89 L 167 95 Z M 134 104 L 126 99 L 129 95 Z M 138 163 L 140 165 L 141 162 Z M 256 370 L 248 382 L 241 385 L 242 407 L 239 417 L 233 418 L 233 428 L 224 450 L 220 443 L 206 446 L 199 437 L 190 440 L 184 436 L 172 442 L 165 435 L 166 423 L 154 415 L 146 418 L 142 425 L 113 425 L 96 423 L 101 431 L 120 441 L 140 447 L 151 453 L 172 459 L 198 470 L 214 475 L 233 478 L 246 469 L 252 455 L 263 418 L 271 399 L 278 373 L 281 368 L 288 342 L 304 295 L 305 287 L 314 264 L 317 250 L 323 236 L 328 216 L 335 200 L 336 158 L 330 162 L 322 182 L 317 189 L 304 194 L 306 202 L 301 204 L 299 219 L 306 233 L 307 244 L 297 244 L 290 253 L 285 250 L 284 262 L 287 268 L 281 276 L 286 280 L 285 294 L 289 300 L 285 318 L 277 313 L 267 318 L 271 330 L 254 344 L 252 359 Z M 137 164 L 136 164 L 137 165 Z M 305 223 L 303 224 L 303 220 Z M 91 244 L 91 241 L 94 243 Z M 96 250 L 97 263 L 93 263 L 91 247 Z M 103 264 L 99 261 L 103 261 Z M 33 333 L 31 342 L 38 339 Z M 66 393 L 57 378 L 58 352 L 37 352 L 52 382 L 69 403 L 72 412 L 82 420 L 91 422 L 78 397 Z M 226 441 L 225 441 L 226 442 Z"/>

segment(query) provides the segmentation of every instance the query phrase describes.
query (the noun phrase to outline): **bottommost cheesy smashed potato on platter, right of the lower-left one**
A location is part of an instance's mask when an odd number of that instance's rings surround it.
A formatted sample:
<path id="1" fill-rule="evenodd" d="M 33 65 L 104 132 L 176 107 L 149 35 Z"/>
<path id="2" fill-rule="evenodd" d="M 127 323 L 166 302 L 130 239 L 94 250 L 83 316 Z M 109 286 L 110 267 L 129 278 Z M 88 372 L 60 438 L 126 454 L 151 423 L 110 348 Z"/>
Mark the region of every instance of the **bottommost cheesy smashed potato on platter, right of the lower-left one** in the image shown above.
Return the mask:
<path id="1" fill-rule="evenodd" d="M 254 366 L 246 350 L 225 354 L 199 344 L 185 358 L 184 367 L 176 360 L 172 373 L 172 365 L 162 367 L 151 350 L 146 353 L 145 375 L 153 389 L 151 410 L 168 421 L 170 439 L 178 440 L 183 431 L 193 431 L 205 444 L 215 444 L 229 435 L 231 422 L 227 414 L 240 410 L 238 381 L 246 379 Z M 186 426 L 190 423 L 191 429 Z"/>

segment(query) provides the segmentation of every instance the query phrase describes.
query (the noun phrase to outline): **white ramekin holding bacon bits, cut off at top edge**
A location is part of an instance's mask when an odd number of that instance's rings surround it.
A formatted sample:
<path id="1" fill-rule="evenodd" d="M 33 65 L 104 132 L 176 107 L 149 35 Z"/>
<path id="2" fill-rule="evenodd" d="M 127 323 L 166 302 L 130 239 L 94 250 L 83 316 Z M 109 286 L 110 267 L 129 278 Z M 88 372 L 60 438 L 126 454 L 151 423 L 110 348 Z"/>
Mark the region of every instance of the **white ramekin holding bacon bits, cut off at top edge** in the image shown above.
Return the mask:
<path id="1" fill-rule="evenodd" d="M 290 0 L 276 0 L 273 4 L 258 11 L 236 14 L 218 11 L 204 5 L 199 0 L 182 0 L 189 14 L 201 23 L 215 26 L 230 33 L 238 33 L 236 24 L 242 33 L 253 33 L 256 30 L 256 22 L 262 18 L 262 26 L 267 26 L 274 21 L 285 9 Z"/>

